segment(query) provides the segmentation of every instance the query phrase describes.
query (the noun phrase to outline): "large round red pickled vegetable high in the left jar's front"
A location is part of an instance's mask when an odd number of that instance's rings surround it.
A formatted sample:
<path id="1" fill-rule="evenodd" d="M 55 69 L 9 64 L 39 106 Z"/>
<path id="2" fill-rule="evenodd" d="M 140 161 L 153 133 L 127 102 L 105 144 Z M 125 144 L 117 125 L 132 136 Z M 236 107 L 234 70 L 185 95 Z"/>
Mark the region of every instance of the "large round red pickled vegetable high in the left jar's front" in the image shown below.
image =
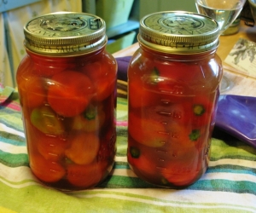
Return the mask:
<path id="1" fill-rule="evenodd" d="M 51 78 L 48 89 L 48 102 L 56 113 L 73 117 L 89 105 L 94 86 L 81 72 L 67 70 Z"/>

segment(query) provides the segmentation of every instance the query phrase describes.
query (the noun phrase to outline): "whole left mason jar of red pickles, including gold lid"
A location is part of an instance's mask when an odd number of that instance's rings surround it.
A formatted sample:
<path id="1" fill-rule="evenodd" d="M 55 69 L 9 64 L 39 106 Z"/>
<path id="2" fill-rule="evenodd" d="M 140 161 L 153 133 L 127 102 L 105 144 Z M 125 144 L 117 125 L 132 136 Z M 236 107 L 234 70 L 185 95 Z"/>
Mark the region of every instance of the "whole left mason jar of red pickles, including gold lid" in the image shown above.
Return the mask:
<path id="1" fill-rule="evenodd" d="M 29 164 L 50 187 L 94 187 L 113 168 L 117 64 L 105 31 L 93 14 L 66 12 L 24 27 L 16 81 Z"/>

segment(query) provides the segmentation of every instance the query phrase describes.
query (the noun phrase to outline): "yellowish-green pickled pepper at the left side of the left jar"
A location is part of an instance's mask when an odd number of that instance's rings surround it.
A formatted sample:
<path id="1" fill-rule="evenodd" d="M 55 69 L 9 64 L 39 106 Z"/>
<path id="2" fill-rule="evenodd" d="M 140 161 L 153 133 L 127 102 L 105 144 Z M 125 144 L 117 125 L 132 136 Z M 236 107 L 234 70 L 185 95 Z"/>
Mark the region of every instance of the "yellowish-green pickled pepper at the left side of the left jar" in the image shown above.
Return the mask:
<path id="1" fill-rule="evenodd" d="M 62 135 L 65 132 L 61 119 L 49 106 L 34 108 L 30 119 L 34 127 L 45 134 Z"/>

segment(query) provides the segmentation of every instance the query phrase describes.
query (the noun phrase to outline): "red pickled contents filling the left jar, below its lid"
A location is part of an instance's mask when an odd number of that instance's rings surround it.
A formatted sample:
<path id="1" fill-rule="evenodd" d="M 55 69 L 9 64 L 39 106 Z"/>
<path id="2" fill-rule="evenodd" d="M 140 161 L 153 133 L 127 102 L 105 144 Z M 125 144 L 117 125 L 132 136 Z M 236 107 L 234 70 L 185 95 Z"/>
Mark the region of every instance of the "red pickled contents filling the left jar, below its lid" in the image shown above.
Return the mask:
<path id="1" fill-rule="evenodd" d="M 33 54 L 17 83 L 32 173 L 50 187 L 99 184 L 116 152 L 116 63 L 101 49 L 90 55 Z"/>

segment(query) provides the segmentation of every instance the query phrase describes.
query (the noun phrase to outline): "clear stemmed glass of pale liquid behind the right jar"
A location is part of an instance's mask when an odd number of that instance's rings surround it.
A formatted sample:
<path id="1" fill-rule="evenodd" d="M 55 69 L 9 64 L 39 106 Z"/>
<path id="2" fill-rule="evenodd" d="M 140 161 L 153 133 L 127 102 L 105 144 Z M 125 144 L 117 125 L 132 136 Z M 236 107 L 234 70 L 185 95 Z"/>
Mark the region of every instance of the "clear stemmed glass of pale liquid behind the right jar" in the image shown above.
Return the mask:
<path id="1" fill-rule="evenodd" d="M 218 22 L 219 36 L 236 20 L 246 0 L 195 0 L 199 14 L 204 14 Z M 222 78 L 220 91 L 230 89 L 230 79 L 225 75 Z"/>

